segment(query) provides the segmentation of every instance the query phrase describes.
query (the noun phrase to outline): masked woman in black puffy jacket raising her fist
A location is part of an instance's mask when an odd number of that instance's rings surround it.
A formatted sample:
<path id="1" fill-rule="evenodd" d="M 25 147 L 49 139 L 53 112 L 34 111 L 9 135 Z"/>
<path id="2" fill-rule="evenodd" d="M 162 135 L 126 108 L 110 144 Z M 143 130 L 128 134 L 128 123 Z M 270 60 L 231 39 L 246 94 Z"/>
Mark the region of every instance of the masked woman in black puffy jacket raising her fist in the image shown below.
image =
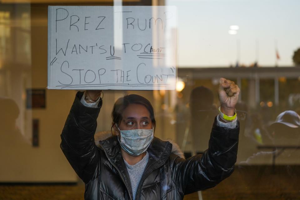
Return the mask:
<path id="1" fill-rule="evenodd" d="M 218 93 L 220 114 L 213 122 L 209 148 L 185 160 L 171 153 L 171 143 L 153 136 L 153 108 L 139 95 L 117 100 L 112 112 L 115 135 L 97 148 L 100 91 L 78 92 L 61 134 L 61 148 L 85 183 L 85 199 L 183 199 L 227 178 L 237 158 L 239 88 L 221 78 Z"/>

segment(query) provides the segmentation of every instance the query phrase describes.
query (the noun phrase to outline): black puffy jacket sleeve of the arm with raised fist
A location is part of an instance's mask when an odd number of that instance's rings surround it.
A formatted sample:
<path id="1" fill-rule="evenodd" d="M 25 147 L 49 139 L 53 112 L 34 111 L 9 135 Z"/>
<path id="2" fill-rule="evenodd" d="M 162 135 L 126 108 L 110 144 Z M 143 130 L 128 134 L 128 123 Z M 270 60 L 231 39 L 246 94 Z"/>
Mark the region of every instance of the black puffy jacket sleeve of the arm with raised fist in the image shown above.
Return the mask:
<path id="1" fill-rule="evenodd" d="M 234 170 L 239 122 L 236 121 L 235 128 L 221 127 L 217 117 L 212 126 L 208 149 L 203 155 L 196 155 L 187 160 L 171 155 L 177 157 L 171 163 L 173 180 L 183 195 L 214 187 L 229 177 Z"/>

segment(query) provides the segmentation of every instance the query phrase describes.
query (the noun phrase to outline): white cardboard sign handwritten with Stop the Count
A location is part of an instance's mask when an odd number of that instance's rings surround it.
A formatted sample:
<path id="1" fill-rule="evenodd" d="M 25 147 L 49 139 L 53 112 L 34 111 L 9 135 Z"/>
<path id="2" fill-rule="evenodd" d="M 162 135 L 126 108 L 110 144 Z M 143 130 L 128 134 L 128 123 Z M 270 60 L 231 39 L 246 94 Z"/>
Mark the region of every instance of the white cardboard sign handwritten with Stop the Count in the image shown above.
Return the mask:
<path id="1" fill-rule="evenodd" d="M 49 6 L 48 89 L 173 90 L 171 6 Z"/>

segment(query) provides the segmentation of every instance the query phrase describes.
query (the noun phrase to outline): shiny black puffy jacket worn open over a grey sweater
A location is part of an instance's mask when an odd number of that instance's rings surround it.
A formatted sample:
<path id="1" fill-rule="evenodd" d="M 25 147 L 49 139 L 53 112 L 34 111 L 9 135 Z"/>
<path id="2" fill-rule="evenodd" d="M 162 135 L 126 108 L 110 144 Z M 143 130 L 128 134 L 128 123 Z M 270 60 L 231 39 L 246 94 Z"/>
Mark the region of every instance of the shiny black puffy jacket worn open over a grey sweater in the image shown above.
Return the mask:
<path id="1" fill-rule="evenodd" d="M 133 199 L 130 178 L 117 136 L 94 143 L 97 117 L 102 106 L 89 108 L 76 94 L 61 134 L 61 149 L 85 183 L 84 197 Z M 138 186 L 136 200 L 183 199 L 185 194 L 214 187 L 227 178 L 237 158 L 239 123 L 234 129 L 212 125 L 209 148 L 187 160 L 171 153 L 172 144 L 154 138 L 148 148 L 149 161 Z"/>

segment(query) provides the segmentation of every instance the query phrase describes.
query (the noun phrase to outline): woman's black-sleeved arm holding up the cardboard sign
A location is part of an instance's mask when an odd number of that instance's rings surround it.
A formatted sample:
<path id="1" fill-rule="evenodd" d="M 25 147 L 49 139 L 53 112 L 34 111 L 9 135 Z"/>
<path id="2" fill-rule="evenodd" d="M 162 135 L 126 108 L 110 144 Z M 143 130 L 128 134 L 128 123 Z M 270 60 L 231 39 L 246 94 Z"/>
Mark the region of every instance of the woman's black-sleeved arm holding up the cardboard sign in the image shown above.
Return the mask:
<path id="1" fill-rule="evenodd" d="M 93 98 L 92 101 L 97 100 L 96 91 L 88 92 L 88 98 Z M 75 172 L 87 183 L 93 178 L 95 169 L 99 167 L 98 163 L 100 162 L 100 151 L 95 145 L 94 134 L 102 99 L 99 101 L 98 107 L 88 107 L 81 102 L 83 95 L 84 93 L 80 91 L 76 93 L 61 134 L 60 147 Z M 89 103 L 89 100 L 87 99 L 86 102 Z"/>

